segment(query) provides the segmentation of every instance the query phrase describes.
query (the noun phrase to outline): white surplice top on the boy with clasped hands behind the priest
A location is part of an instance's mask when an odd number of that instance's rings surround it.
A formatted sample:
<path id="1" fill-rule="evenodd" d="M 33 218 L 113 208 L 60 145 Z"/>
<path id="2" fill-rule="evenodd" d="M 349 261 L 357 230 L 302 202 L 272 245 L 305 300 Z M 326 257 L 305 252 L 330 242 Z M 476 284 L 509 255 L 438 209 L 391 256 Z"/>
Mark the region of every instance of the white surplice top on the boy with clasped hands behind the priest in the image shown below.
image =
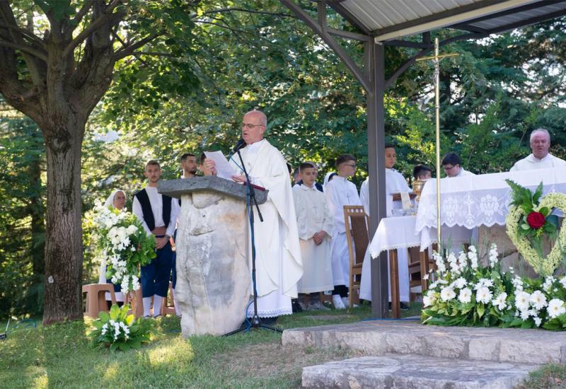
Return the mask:
<path id="1" fill-rule="evenodd" d="M 333 215 L 328 209 L 328 202 L 323 192 L 306 185 L 295 185 L 293 187 L 293 198 L 295 202 L 296 227 L 299 238 L 308 240 L 318 231 L 325 231 L 332 236 L 334 229 Z"/>

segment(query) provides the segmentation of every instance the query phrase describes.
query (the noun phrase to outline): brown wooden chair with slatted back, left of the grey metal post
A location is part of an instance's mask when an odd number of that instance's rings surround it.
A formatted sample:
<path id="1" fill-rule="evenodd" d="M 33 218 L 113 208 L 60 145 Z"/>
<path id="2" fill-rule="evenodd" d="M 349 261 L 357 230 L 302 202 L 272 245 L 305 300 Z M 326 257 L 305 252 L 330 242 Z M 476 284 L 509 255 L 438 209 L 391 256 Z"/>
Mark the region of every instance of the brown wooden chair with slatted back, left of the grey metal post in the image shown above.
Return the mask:
<path id="1" fill-rule="evenodd" d="M 362 281 L 362 263 L 369 245 L 369 216 L 361 205 L 344 206 L 344 223 L 348 252 L 350 253 L 350 307 L 359 304 L 359 286 Z"/>

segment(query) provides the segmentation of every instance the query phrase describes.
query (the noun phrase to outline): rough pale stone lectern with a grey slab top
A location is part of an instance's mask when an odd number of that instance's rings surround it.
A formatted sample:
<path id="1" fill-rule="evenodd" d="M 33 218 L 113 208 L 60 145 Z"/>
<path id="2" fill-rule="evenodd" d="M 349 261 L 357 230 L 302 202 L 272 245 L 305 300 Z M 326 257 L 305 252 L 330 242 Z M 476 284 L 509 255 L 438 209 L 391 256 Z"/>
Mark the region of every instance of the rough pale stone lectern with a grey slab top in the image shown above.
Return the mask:
<path id="1" fill-rule="evenodd" d="M 245 185 L 215 176 L 158 182 L 158 192 L 181 199 L 175 302 L 190 335 L 238 329 L 250 301 Z M 258 204 L 267 191 L 255 190 Z"/>

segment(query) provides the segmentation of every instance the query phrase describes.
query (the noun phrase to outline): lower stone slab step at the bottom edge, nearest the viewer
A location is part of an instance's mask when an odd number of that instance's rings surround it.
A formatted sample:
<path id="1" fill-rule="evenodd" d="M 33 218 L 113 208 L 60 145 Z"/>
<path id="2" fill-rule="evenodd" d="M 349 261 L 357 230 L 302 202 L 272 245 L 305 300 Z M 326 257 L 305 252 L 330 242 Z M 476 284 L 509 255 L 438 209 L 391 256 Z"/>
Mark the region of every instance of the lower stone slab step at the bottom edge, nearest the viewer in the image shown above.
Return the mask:
<path id="1" fill-rule="evenodd" d="M 384 354 L 303 368 L 304 388 L 506 389 L 537 368 L 531 364 L 461 361 Z"/>

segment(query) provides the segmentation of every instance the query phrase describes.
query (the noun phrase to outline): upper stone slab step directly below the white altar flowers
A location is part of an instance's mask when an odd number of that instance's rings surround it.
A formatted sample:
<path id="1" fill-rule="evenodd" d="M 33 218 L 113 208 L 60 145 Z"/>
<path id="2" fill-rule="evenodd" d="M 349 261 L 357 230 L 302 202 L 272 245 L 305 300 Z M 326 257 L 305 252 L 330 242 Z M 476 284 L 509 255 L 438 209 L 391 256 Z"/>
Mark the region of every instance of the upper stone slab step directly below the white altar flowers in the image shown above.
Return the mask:
<path id="1" fill-rule="evenodd" d="M 375 320 L 284 330 L 283 345 L 339 347 L 370 355 L 415 354 L 524 364 L 566 363 L 566 334 L 516 328 L 437 327 Z"/>

